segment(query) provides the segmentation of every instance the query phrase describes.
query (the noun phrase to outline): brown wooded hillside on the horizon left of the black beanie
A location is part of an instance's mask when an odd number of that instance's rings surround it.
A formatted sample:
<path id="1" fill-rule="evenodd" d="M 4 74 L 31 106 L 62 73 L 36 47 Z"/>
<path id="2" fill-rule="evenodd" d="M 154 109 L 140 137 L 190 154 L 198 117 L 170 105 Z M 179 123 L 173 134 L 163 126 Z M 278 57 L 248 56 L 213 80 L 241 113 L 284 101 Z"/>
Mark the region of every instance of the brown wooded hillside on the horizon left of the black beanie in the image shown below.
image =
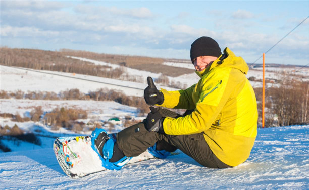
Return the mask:
<path id="1" fill-rule="evenodd" d="M 6 66 L 70 72 L 116 79 L 121 79 L 119 77 L 124 72 L 121 67 L 111 69 L 107 66 L 94 65 L 90 62 L 72 59 L 69 56 L 104 61 L 124 66 L 124 68 L 129 67 L 153 73 L 162 73 L 162 75 L 172 77 L 194 72 L 187 68 L 163 65 L 162 63 L 164 62 L 164 59 L 161 58 L 112 55 L 68 49 L 62 49 L 60 51 L 44 51 L 36 49 L 12 49 L 7 47 L 0 48 L 0 64 Z M 168 59 L 168 61 L 172 62 L 175 61 L 175 59 Z M 179 62 L 184 62 L 184 60 L 179 60 Z"/>

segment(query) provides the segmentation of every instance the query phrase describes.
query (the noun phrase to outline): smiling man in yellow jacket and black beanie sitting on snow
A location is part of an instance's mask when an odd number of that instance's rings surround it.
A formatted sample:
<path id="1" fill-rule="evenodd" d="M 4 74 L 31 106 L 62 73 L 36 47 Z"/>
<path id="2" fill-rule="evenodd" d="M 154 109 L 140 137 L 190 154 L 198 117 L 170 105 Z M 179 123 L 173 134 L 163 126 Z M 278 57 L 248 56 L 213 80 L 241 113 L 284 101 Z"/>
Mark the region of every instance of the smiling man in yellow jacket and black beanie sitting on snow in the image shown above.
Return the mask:
<path id="1" fill-rule="evenodd" d="M 93 144 L 107 168 L 120 169 L 147 148 L 158 158 L 178 148 L 210 168 L 234 167 L 249 157 L 257 134 L 258 111 L 245 76 L 247 64 L 229 48 L 221 54 L 218 43 L 210 37 L 195 40 L 190 57 L 200 76 L 198 83 L 185 90 L 159 91 L 148 77 L 144 90 L 148 105 L 187 109 L 183 116 L 150 107 L 142 123 L 122 130 L 114 139 L 102 129 L 93 132 Z"/>

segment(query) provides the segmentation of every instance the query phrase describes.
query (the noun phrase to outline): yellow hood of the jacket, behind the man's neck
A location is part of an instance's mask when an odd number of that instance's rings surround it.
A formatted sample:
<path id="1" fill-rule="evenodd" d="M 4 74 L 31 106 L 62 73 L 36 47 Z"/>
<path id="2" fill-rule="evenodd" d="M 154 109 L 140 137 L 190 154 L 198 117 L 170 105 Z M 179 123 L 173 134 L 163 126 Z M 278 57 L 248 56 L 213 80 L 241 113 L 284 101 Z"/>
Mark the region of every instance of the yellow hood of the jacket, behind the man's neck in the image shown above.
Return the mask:
<path id="1" fill-rule="evenodd" d="M 240 70 L 242 73 L 247 74 L 249 67 L 242 57 L 236 57 L 236 55 L 226 47 L 223 50 L 223 54 L 216 59 L 210 67 L 204 69 L 203 71 L 195 71 L 195 73 L 202 77 L 204 74 L 208 73 L 215 67 L 231 67 Z"/>

